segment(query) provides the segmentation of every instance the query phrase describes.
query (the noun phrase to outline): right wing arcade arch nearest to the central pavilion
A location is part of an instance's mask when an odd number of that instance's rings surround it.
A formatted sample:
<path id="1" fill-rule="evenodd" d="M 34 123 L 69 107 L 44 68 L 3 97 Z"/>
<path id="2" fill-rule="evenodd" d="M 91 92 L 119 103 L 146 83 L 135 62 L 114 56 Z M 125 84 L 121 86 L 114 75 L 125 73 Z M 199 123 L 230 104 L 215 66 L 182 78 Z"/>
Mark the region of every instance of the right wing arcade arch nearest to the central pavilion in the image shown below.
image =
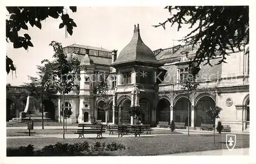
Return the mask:
<path id="1" fill-rule="evenodd" d="M 167 97 L 167 96 L 166 96 Z M 159 98 L 156 110 L 156 122 L 170 121 L 170 101 L 166 97 Z"/>

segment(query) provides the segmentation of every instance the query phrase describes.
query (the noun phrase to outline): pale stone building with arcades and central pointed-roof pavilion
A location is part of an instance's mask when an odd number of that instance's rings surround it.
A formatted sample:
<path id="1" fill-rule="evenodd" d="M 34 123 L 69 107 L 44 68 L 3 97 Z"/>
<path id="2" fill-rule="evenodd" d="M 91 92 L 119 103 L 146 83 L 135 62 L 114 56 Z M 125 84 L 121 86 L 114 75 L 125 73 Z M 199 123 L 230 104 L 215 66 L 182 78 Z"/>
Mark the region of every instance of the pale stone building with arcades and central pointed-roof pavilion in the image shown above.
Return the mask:
<path id="1" fill-rule="evenodd" d="M 81 80 L 77 81 L 80 89 L 65 96 L 65 102 L 68 102 L 65 107 L 73 111 L 68 122 L 92 123 L 101 119 L 108 124 L 133 124 L 127 109 L 140 105 L 145 113 L 144 118 L 140 118 L 144 124 L 156 126 L 158 121 L 174 120 L 187 125 L 189 108 L 189 126 L 198 127 L 201 123 L 212 123 L 204 109 L 218 105 L 223 111 L 216 122 L 220 120 L 232 130 L 248 131 L 249 51 L 245 51 L 246 48 L 243 45 L 240 51 L 229 52 L 227 63 L 216 65 L 221 58 L 210 60 L 212 66 L 203 62 L 197 77 L 200 86 L 194 95 L 188 97 L 181 89 L 179 79 L 196 50 L 177 45 L 153 52 L 142 42 L 139 25 L 135 26 L 133 39 L 118 57 L 117 50 L 76 44 L 65 47 L 68 54 L 76 50 L 74 54 L 81 61 Z M 110 85 L 108 93 L 113 110 L 107 114 L 98 111 L 103 101 L 95 96 L 98 74 L 104 74 Z M 13 94 L 7 97 L 13 101 L 16 99 Z M 54 103 L 55 120 L 61 122 L 62 97 Z"/>

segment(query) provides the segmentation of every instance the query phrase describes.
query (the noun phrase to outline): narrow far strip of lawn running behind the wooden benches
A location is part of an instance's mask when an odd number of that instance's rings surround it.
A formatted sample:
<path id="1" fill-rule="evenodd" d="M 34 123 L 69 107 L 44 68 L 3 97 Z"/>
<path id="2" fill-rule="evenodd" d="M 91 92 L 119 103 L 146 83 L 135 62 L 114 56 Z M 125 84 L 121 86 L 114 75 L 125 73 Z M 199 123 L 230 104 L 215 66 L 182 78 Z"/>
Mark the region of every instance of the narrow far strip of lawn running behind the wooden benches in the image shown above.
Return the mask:
<path id="1" fill-rule="evenodd" d="M 74 134 L 76 129 L 68 129 L 65 131 L 66 134 Z M 34 129 L 30 131 L 31 135 L 35 134 L 62 134 L 62 129 Z M 109 134 L 109 132 L 106 132 Z M 177 131 L 170 131 L 170 130 L 153 130 L 151 134 L 182 134 L 181 132 Z M 6 136 L 28 136 L 27 129 L 7 129 Z"/>

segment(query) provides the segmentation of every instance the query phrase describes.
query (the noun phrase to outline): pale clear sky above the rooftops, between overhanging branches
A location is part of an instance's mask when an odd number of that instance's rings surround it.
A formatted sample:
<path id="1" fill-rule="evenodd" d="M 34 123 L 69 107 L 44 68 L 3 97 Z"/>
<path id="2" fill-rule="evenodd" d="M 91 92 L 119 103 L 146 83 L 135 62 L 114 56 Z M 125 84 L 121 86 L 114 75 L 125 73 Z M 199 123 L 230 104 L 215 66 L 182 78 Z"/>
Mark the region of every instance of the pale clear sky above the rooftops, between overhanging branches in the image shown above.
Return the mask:
<path id="1" fill-rule="evenodd" d="M 178 41 L 173 40 L 181 39 L 190 31 L 184 26 L 177 32 L 177 25 L 170 28 L 170 24 L 166 24 L 166 30 L 161 26 L 154 28 L 152 25 L 169 17 L 164 7 L 78 7 L 75 13 L 67 12 L 77 24 L 72 36 L 65 38 L 65 28 L 59 29 L 61 19 L 49 17 L 41 22 L 41 30 L 28 23 L 28 31 L 19 32 L 19 35 L 28 33 L 34 47 L 14 49 L 12 43 L 6 43 L 7 56 L 17 67 L 16 76 L 15 72 L 13 76 L 11 72 L 6 75 L 6 83 L 19 86 L 28 82 L 28 75 L 36 76 L 36 65 L 41 65 L 44 59 L 52 60 L 53 48 L 49 43 L 53 40 L 63 47 L 76 43 L 117 49 L 119 54 L 132 39 L 134 24 L 139 23 L 141 38 L 152 50 L 177 45 Z"/>

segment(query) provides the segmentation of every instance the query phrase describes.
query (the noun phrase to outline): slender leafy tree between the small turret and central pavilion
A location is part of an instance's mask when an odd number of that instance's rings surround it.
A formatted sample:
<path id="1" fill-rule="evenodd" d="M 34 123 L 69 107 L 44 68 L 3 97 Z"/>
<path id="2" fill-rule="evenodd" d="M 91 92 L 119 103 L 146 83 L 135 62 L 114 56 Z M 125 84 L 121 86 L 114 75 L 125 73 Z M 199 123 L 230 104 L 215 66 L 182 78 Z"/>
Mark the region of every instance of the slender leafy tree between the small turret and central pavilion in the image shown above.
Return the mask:
<path id="1" fill-rule="evenodd" d="M 108 81 L 105 80 L 104 75 L 99 76 L 100 83 L 98 85 L 97 93 L 96 95 L 100 96 L 103 98 L 103 105 L 99 106 L 99 110 L 102 110 L 106 114 L 106 123 L 108 123 L 108 113 L 110 110 L 112 110 L 112 104 L 111 104 L 111 99 L 110 96 L 108 95 L 109 91 L 109 84 Z"/>

